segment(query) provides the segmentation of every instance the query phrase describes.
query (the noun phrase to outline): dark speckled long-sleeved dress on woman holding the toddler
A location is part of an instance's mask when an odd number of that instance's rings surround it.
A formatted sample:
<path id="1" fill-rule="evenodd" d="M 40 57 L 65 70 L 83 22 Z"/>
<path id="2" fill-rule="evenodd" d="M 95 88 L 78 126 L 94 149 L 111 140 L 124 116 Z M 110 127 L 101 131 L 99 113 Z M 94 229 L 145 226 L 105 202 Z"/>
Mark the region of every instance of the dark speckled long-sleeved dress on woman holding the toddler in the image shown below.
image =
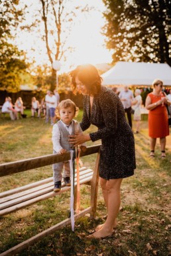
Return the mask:
<path id="1" fill-rule="evenodd" d="M 80 126 L 87 130 L 90 124 L 97 132 L 91 140 L 101 139 L 99 176 L 105 180 L 126 178 L 134 174 L 135 141 L 126 118 L 123 104 L 113 90 L 101 86 L 93 98 L 90 113 L 89 96 L 84 96 L 84 116 Z"/>

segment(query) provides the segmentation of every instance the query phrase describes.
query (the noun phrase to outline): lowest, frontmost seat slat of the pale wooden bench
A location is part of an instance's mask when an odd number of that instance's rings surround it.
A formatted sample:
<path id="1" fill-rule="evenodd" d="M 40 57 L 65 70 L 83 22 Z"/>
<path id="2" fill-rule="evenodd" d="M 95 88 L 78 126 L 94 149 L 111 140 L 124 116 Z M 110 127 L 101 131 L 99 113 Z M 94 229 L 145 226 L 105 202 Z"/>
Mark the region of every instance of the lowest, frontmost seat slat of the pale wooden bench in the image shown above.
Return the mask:
<path id="1" fill-rule="evenodd" d="M 91 176 L 85 178 L 84 180 L 82 180 L 82 184 L 86 184 L 87 182 L 89 182 L 91 180 Z M 76 184 L 75 184 L 76 185 Z M 56 193 L 56 192 L 49 192 L 49 193 L 45 193 L 43 195 L 40 195 L 38 197 L 34 197 L 28 201 L 24 201 L 22 203 L 18 203 L 17 205 L 13 205 L 7 209 L 2 209 L 0 211 L 0 216 L 3 216 L 3 215 L 6 215 L 6 214 L 9 214 L 9 213 L 12 213 L 13 211 L 17 211 L 19 209 L 22 209 L 24 207 L 27 207 L 28 205 L 31 205 L 33 203 L 36 203 L 38 201 L 42 201 L 42 200 L 45 200 L 45 199 L 48 199 L 50 197 L 54 197 L 56 195 L 59 195 L 60 193 L 63 193 L 63 192 L 66 192 L 70 190 L 70 187 L 63 187 L 62 190 L 60 190 L 60 192 Z"/>

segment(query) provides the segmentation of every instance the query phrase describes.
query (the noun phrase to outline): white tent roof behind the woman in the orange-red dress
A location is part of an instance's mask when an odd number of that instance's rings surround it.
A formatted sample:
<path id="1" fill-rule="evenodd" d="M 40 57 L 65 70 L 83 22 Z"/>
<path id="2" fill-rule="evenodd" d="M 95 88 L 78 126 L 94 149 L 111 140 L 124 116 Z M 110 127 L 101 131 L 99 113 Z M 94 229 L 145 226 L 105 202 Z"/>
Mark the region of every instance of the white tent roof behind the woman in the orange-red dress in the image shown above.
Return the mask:
<path id="1" fill-rule="evenodd" d="M 165 63 L 127 63 L 119 61 L 113 68 L 103 73 L 103 85 L 146 85 L 154 79 L 163 80 L 171 86 L 171 68 Z"/>

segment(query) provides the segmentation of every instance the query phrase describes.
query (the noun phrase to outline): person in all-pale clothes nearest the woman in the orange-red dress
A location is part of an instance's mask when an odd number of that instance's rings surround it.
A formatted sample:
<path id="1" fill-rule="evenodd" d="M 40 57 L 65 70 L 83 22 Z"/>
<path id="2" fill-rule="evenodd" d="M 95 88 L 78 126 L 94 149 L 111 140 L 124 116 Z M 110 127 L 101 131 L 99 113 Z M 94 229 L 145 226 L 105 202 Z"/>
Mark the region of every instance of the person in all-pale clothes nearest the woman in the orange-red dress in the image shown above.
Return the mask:
<path id="1" fill-rule="evenodd" d="M 132 101 L 132 106 L 134 106 L 134 116 L 133 119 L 136 122 L 136 132 L 135 134 L 139 134 L 140 131 L 140 122 L 141 122 L 141 104 L 142 104 L 142 97 L 141 97 L 141 90 L 135 90 L 135 98 Z"/>

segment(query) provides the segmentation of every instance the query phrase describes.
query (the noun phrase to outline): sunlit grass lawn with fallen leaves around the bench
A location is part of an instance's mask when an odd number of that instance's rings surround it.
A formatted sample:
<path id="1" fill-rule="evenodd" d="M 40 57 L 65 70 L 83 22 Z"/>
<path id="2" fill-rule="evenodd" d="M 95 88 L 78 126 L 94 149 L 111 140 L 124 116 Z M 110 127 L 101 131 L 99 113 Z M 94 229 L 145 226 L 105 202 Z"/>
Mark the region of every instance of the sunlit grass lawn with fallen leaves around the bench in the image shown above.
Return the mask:
<path id="1" fill-rule="evenodd" d="M 52 126 L 45 124 L 44 119 L 30 118 L 30 112 L 27 112 L 27 116 L 15 122 L 8 116 L 1 119 L 1 163 L 52 154 Z M 77 119 L 81 118 L 80 111 Z M 89 128 L 89 131 L 92 130 L 95 130 L 94 126 Z M 70 226 L 60 229 L 18 255 L 170 255 L 171 138 L 167 137 L 167 158 L 160 158 L 160 146 L 157 143 L 156 157 L 150 159 L 148 128 L 144 117 L 141 133 L 135 134 L 135 142 L 137 169 L 135 176 L 123 180 L 118 226 L 111 237 L 87 239 L 94 227 L 105 221 L 106 208 L 99 188 L 95 219 L 82 217 L 76 221 L 75 232 L 71 231 Z M 99 141 L 96 143 L 99 144 Z M 87 156 L 82 160 L 84 166 L 93 168 L 95 156 Z M 51 166 L 6 176 L 0 178 L 0 191 L 50 176 Z M 81 207 L 84 209 L 89 206 L 89 187 L 82 186 L 81 194 Z M 69 205 L 70 192 L 67 192 L 0 217 L 0 253 L 66 219 Z"/>

